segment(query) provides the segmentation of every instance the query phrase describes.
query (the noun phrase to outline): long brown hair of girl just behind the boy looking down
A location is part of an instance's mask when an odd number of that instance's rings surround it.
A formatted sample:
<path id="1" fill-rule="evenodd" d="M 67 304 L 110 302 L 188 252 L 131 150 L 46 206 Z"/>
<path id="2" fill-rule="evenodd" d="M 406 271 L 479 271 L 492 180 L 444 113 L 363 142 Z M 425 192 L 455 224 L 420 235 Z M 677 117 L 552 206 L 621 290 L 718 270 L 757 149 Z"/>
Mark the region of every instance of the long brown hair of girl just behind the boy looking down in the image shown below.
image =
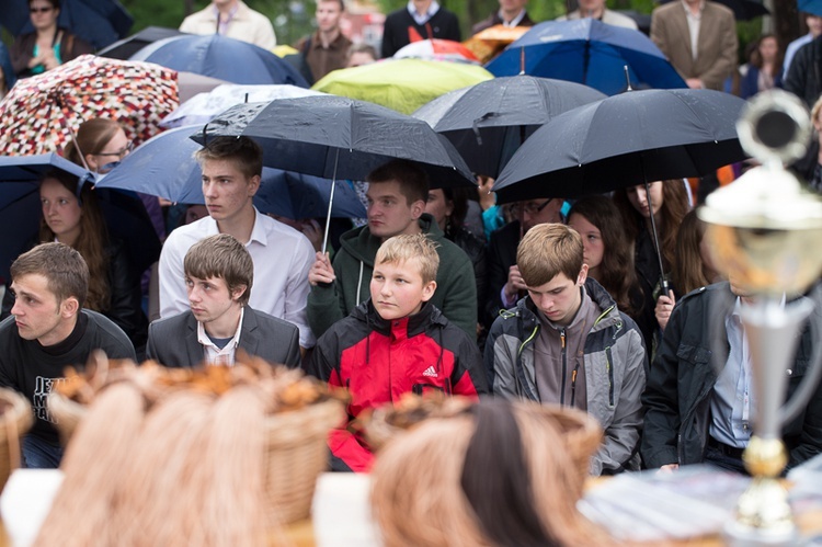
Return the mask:
<path id="1" fill-rule="evenodd" d="M 614 297 L 621 311 L 631 315 L 633 308 L 630 292 L 638 283 L 637 272 L 633 269 L 633 253 L 625 235 L 619 209 L 604 195 L 591 195 L 573 204 L 568 214 L 569 220 L 572 215 L 584 217 L 600 230 L 605 249 L 596 281 Z"/>

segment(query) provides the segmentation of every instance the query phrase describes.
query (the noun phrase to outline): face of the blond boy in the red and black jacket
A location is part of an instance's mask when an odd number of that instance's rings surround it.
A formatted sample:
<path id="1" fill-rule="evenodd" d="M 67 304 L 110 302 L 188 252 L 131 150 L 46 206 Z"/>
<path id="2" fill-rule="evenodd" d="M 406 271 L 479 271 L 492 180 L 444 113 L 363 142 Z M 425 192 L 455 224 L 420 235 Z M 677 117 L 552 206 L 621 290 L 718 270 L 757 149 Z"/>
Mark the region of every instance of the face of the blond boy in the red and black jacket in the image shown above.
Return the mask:
<path id="1" fill-rule="evenodd" d="M 374 266 L 372 304 L 386 321 L 402 319 L 420 311 L 422 303 L 434 296 L 436 282 L 423 283 L 415 260 Z"/>

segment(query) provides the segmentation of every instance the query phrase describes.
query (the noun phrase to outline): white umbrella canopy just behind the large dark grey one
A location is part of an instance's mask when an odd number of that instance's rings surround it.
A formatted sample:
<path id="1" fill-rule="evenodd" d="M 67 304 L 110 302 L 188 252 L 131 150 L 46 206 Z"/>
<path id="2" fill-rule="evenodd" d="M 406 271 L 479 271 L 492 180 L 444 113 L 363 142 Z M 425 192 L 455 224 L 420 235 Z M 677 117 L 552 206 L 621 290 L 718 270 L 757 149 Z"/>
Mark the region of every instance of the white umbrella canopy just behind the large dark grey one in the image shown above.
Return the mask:
<path id="1" fill-rule="evenodd" d="M 181 127 L 183 125 L 205 124 L 235 104 L 319 94 L 321 94 L 319 91 L 288 86 L 287 83 L 279 86 L 227 83 L 214 88 L 208 93 L 198 93 L 185 101 L 178 110 L 165 116 L 160 125 L 163 127 Z"/>

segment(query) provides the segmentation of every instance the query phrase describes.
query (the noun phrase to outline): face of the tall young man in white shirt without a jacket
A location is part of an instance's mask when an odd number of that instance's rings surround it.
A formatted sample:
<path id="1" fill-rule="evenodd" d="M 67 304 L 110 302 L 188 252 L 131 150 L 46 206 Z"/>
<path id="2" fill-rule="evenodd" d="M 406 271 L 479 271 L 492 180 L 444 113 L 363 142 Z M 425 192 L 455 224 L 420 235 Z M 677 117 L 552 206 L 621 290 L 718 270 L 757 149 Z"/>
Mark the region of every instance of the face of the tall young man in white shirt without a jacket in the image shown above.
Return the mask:
<path id="1" fill-rule="evenodd" d="M 248 179 L 231 160 L 203 162 L 203 196 L 212 218 L 221 221 L 239 219 L 252 212 L 252 198 L 260 187 L 260 176 Z"/>

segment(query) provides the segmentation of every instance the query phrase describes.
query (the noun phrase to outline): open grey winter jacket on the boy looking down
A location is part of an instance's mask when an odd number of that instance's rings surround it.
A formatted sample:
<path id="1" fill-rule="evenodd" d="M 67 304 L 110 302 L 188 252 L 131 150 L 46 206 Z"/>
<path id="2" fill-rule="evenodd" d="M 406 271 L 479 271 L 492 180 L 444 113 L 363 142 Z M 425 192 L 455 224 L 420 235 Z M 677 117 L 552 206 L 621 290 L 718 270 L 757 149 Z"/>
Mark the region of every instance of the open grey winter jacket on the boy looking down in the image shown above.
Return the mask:
<path id="1" fill-rule="evenodd" d="M 638 469 L 643 414 L 640 395 L 648 368 L 642 335 L 596 281 L 589 278 L 585 290 L 602 311 L 586 335 L 583 357 L 587 412 L 605 430 L 605 440 L 591 459 L 591 475 Z M 538 365 L 534 363 L 539 329 L 528 296 L 496 318 L 484 355 L 494 395 L 539 401 Z"/>

